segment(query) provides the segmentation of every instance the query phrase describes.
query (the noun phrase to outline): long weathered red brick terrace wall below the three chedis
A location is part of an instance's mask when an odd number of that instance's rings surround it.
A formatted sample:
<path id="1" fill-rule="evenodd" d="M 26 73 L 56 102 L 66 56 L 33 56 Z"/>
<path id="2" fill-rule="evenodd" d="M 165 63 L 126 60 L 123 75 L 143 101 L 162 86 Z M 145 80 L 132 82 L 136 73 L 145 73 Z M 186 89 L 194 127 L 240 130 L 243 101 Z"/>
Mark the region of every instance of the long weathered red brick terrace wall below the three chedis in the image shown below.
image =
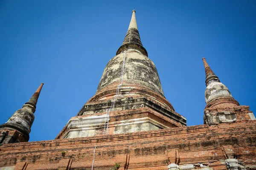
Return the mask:
<path id="1" fill-rule="evenodd" d="M 240 164 L 256 164 L 256 121 L 242 120 L 215 126 L 196 125 L 40 142 L 3 144 L 0 167 L 26 162 L 27 170 L 119 169 L 167 170 L 170 163 L 203 163 L 214 170 L 227 169 L 224 160 L 237 157 Z M 65 155 L 61 154 L 65 151 Z M 198 167 L 199 168 L 199 167 Z"/>

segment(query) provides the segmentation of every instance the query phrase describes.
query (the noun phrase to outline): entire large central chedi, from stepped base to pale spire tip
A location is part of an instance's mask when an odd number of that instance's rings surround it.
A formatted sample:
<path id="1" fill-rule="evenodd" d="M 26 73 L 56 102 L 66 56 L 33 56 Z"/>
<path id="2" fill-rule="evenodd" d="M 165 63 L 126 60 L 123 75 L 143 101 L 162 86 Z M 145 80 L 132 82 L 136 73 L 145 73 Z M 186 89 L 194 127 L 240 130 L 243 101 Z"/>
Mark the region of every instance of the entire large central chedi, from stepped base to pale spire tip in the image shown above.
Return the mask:
<path id="1" fill-rule="evenodd" d="M 56 139 L 186 126 L 163 94 L 154 63 L 140 40 L 135 10 L 121 47 L 105 67 L 96 94 Z"/>

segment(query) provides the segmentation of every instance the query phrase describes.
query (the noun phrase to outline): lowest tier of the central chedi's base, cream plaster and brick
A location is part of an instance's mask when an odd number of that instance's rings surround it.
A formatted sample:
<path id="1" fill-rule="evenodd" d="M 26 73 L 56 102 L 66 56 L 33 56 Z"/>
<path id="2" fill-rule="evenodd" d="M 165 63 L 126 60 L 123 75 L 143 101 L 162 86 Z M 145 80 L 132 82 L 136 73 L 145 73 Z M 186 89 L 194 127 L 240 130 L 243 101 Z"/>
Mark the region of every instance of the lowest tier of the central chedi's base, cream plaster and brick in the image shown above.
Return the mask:
<path id="1" fill-rule="evenodd" d="M 105 113 L 72 117 L 56 139 L 103 135 Z M 106 124 L 107 125 L 107 124 Z M 181 126 L 151 108 L 113 111 L 110 114 L 108 134 L 132 133 Z"/>

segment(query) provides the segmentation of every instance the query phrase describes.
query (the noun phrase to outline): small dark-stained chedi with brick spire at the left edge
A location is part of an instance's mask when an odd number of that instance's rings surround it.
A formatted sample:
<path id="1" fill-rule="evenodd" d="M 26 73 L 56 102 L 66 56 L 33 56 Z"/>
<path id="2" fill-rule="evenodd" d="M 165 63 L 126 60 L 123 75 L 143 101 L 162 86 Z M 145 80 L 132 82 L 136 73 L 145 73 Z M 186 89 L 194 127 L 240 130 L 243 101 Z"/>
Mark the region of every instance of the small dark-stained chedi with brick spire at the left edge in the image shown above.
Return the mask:
<path id="1" fill-rule="evenodd" d="M 0 143 L 16 143 L 29 141 L 29 133 L 34 122 L 35 108 L 44 83 L 35 91 L 28 102 L 15 113 L 9 120 L 0 125 Z"/>

